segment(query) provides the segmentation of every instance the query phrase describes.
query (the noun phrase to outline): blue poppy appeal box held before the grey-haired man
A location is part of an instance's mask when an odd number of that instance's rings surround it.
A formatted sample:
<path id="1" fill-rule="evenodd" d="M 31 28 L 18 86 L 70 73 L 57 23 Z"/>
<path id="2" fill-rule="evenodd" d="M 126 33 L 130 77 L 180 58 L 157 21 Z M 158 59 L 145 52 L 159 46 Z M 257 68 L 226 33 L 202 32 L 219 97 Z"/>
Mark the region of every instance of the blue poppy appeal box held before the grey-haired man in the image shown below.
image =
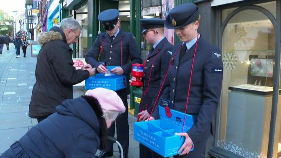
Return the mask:
<path id="1" fill-rule="evenodd" d="M 116 66 L 107 66 L 108 70 L 115 67 Z M 114 91 L 124 89 L 127 87 L 127 77 L 126 75 L 116 75 L 111 73 L 97 73 L 96 76 L 89 77 L 85 80 L 86 90 L 92 90 L 98 87 Z"/>

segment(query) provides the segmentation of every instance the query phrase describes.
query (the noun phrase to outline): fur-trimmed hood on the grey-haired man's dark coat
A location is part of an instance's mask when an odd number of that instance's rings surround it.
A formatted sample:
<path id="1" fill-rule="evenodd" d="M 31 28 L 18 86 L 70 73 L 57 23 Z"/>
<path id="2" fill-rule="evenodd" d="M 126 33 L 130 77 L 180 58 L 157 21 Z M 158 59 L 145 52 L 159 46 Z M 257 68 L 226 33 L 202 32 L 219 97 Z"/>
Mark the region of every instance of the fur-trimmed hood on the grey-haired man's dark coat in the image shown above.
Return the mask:
<path id="1" fill-rule="evenodd" d="M 50 29 L 48 32 L 43 32 L 38 35 L 38 43 L 41 45 L 44 45 L 45 43 L 49 41 L 54 41 L 54 40 L 64 40 L 66 41 L 66 37 L 62 30 L 54 26 Z"/>

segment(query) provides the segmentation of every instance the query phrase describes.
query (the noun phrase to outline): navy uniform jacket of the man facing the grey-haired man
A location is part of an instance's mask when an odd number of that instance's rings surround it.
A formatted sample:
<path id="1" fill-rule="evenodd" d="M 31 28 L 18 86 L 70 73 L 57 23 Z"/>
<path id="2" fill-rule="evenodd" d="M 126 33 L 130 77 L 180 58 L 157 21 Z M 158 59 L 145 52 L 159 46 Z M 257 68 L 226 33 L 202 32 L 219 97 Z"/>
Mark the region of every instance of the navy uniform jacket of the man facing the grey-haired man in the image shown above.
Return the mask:
<path id="1" fill-rule="evenodd" d="M 122 66 L 121 66 L 121 37 L 122 37 Z M 130 74 L 132 71 L 133 63 L 141 63 L 140 53 L 136 44 L 136 39 L 133 37 L 132 33 L 120 32 L 117 34 L 114 41 L 111 43 L 110 37 L 107 33 L 100 33 L 96 38 L 94 44 L 88 51 L 86 55 L 86 62 L 92 67 L 98 68 L 100 65 L 97 62 L 97 58 L 100 52 L 103 41 L 103 50 L 101 52 L 100 61 L 106 61 L 109 66 L 121 66 L 124 74 Z M 128 60 L 130 59 L 130 62 Z M 127 87 L 125 89 L 117 91 L 118 95 L 128 95 L 130 94 L 129 79 L 127 78 Z"/>

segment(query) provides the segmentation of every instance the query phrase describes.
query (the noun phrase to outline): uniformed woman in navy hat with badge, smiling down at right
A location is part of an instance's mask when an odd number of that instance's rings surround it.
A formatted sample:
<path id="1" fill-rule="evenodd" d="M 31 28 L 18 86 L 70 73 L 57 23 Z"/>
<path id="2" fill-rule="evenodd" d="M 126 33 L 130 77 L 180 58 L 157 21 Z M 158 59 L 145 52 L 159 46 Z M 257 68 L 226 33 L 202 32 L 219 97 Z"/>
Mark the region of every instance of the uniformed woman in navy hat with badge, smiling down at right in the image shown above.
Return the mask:
<path id="1" fill-rule="evenodd" d="M 165 27 L 175 29 L 181 42 L 175 46 L 171 67 L 168 72 L 166 87 L 160 98 L 168 99 L 171 108 L 185 113 L 189 89 L 193 55 L 196 55 L 191 77 L 191 87 L 187 113 L 193 115 L 194 124 L 186 133 L 185 142 L 174 157 L 201 157 L 206 141 L 212 134 L 212 118 L 217 111 L 221 95 L 223 63 L 219 48 L 209 44 L 200 34 L 198 7 L 185 3 L 174 7 L 165 21 Z M 155 108 L 149 120 L 159 119 L 158 108 Z M 190 151 L 194 143 L 194 151 Z"/>

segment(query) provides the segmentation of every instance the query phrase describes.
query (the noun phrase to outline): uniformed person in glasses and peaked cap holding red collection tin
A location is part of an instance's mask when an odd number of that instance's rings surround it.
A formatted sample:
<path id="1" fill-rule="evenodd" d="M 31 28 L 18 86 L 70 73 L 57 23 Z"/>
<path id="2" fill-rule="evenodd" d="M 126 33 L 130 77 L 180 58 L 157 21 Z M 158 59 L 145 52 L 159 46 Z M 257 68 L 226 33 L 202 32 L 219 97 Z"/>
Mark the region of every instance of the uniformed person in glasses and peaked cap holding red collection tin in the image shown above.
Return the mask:
<path id="1" fill-rule="evenodd" d="M 153 107 L 153 99 L 156 98 L 164 77 L 166 75 L 172 50 L 174 46 L 164 36 L 165 20 L 159 18 L 140 19 L 143 27 L 143 37 L 147 43 L 152 44 L 151 50 L 145 60 L 143 76 L 143 93 L 140 102 L 140 121 L 148 119 Z M 136 81 L 132 77 L 130 83 Z M 161 157 L 143 144 L 140 144 L 140 158 Z"/>

